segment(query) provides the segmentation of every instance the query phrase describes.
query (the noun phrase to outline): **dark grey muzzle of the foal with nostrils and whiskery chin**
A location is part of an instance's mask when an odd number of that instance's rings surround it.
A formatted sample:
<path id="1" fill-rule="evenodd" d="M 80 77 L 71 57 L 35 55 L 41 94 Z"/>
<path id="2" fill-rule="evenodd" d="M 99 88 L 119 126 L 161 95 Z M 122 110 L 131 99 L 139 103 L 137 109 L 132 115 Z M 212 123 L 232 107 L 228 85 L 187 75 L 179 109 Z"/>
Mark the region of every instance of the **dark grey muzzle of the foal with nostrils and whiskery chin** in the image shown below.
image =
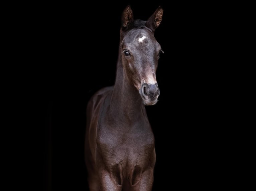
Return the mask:
<path id="1" fill-rule="evenodd" d="M 157 98 L 160 95 L 158 84 L 143 83 L 140 90 L 140 96 L 145 105 L 154 105 L 157 102 Z"/>

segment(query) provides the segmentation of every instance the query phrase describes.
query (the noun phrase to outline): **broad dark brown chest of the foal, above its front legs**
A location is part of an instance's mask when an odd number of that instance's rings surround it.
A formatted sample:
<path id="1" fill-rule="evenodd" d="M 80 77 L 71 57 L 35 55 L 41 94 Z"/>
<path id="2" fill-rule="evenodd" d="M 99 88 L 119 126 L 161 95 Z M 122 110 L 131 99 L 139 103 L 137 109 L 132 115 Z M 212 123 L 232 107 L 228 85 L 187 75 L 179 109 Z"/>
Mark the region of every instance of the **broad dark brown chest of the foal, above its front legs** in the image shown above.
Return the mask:
<path id="1" fill-rule="evenodd" d="M 154 150 L 154 136 L 149 126 L 115 131 L 107 128 L 98 133 L 97 146 L 109 164 L 143 165 Z"/>

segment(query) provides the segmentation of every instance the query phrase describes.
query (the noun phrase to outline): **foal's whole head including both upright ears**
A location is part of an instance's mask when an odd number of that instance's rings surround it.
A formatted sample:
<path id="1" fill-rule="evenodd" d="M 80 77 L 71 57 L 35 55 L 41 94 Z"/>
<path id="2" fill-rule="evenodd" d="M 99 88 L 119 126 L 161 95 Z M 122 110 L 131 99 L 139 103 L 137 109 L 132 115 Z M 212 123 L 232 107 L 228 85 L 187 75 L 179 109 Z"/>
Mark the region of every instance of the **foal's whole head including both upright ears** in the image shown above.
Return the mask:
<path id="1" fill-rule="evenodd" d="M 147 21 L 133 20 L 130 6 L 122 14 L 120 51 L 124 75 L 137 88 L 145 105 L 155 104 L 160 94 L 155 73 L 162 51 L 154 31 L 160 25 L 162 16 L 163 9 L 160 6 Z"/>

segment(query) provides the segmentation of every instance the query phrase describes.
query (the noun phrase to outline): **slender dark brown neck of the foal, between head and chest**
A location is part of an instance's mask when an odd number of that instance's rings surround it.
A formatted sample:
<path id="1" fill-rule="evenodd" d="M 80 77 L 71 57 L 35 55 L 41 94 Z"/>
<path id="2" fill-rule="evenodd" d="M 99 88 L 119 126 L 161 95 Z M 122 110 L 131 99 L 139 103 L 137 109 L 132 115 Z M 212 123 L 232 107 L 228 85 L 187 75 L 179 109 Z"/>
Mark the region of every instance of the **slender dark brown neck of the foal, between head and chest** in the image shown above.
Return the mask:
<path id="1" fill-rule="evenodd" d="M 143 112 L 144 109 L 145 106 L 142 103 L 138 90 L 124 74 L 121 50 L 119 50 L 116 80 L 110 101 L 110 110 L 122 119 L 137 120 L 138 117 L 145 114 Z"/>

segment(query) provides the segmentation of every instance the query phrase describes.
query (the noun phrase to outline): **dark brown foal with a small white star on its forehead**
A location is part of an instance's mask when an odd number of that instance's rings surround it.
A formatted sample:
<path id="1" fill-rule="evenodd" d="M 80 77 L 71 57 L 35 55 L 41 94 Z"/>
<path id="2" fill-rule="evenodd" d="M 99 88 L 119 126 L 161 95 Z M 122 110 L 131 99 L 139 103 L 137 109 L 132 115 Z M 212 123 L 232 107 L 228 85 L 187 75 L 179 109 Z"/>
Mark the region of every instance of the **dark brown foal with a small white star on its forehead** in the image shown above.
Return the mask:
<path id="1" fill-rule="evenodd" d="M 152 190 L 155 138 L 145 105 L 156 104 L 158 59 L 154 37 L 163 9 L 134 19 L 128 5 L 121 15 L 115 83 L 87 104 L 85 163 L 91 191 Z"/>

